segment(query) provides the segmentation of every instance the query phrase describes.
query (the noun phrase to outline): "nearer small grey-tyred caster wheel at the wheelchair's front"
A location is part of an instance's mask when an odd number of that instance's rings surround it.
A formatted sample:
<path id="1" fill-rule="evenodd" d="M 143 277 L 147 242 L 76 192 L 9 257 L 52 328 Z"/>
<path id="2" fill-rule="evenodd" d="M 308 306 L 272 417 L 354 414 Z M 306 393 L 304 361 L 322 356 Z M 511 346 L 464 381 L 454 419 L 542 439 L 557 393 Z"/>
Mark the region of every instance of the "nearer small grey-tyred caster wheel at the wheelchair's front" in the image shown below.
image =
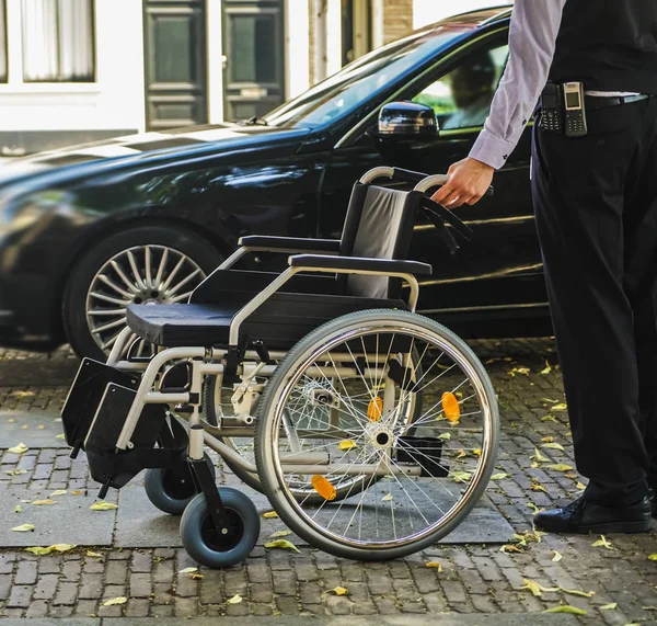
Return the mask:
<path id="1" fill-rule="evenodd" d="M 189 502 L 181 519 L 181 539 L 189 556 L 210 568 L 226 568 L 243 561 L 260 536 L 260 516 L 251 499 L 230 487 L 219 489 L 228 514 L 228 532 L 215 528 L 205 496 Z"/>

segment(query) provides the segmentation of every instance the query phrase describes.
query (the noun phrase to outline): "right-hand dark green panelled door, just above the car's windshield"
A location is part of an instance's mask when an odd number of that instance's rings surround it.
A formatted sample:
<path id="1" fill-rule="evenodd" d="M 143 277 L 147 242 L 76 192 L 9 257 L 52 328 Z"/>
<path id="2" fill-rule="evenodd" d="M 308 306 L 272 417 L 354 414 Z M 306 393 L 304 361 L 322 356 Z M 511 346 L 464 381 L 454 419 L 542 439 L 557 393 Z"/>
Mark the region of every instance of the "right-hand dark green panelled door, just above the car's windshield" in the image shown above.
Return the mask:
<path id="1" fill-rule="evenodd" d="M 285 100 L 283 0 L 223 0 L 224 117 L 262 116 Z"/>

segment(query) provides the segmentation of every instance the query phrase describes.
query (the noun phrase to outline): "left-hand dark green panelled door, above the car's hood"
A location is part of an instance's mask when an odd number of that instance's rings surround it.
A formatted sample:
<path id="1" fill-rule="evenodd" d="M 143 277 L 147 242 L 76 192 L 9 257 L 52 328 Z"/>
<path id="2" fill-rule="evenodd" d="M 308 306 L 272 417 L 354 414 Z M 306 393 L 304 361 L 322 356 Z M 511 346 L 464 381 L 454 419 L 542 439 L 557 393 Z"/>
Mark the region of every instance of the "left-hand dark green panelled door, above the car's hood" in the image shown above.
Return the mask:
<path id="1" fill-rule="evenodd" d="M 205 0 L 145 0 L 146 125 L 205 124 Z"/>

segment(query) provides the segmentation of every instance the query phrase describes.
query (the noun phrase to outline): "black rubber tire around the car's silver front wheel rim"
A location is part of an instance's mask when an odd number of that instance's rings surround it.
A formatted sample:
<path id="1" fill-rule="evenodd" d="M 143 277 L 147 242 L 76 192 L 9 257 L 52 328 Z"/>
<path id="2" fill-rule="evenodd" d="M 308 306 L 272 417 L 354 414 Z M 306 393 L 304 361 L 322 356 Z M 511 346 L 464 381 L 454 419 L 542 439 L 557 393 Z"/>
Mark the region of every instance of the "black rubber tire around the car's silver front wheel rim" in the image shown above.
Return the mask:
<path id="1" fill-rule="evenodd" d="M 69 275 L 62 297 L 66 337 L 76 354 L 105 361 L 108 351 L 95 341 L 87 319 L 87 298 L 94 276 L 116 254 L 138 246 L 160 246 L 185 254 L 205 275 L 222 261 L 221 254 L 197 234 L 177 225 L 126 226 L 90 246 Z M 119 331 L 120 328 L 116 328 Z"/>

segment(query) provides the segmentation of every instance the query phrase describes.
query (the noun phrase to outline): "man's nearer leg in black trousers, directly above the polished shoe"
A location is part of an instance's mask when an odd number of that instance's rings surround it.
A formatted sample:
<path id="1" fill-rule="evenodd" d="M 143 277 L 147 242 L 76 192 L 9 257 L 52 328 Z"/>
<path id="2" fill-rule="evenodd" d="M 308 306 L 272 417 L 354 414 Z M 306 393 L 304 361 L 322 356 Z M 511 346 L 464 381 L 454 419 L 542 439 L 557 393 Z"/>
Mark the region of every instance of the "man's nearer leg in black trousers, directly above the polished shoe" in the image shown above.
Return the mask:
<path id="1" fill-rule="evenodd" d="M 625 111 L 595 113 L 581 139 L 538 132 L 532 190 L 575 458 L 590 481 L 585 499 L 622 508 L 647 493 L 623 289 L 624 186 L 638 130 Z M 606 133 L 613 116 L 616 132 Z"/>

